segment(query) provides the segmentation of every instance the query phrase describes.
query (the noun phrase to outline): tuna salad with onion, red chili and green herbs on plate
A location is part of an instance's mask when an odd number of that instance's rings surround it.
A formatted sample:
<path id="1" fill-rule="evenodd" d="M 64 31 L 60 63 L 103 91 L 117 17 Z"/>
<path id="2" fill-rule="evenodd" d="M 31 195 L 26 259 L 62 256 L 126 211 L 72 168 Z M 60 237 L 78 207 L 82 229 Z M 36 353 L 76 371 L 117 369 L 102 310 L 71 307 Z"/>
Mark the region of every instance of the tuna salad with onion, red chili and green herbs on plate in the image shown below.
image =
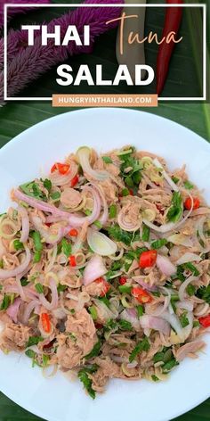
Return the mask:
<path id="1" fill-rule="evenodd" d="M 185 167 L 89 147 L 12 190 L 0 216 L 0 350 L 45 376 L 165 380 L 210 326 L 210 208 Z"/>

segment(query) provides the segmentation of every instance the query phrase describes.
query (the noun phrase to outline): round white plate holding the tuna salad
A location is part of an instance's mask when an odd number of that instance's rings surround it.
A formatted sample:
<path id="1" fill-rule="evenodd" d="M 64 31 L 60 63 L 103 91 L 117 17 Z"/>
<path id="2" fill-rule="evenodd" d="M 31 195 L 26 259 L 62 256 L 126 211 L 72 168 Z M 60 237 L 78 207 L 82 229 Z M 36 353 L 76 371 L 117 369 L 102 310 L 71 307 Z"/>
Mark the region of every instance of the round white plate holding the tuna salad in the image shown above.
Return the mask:
<path id="1" fill-rule="evenodd" d="M 124 144 L 158 153 L 171 168 L 187 164 L 190 179 L 210 202 L 210 145 L 170 120 L 120 109 L 90 109 L 62 114 L 29 128 L 0 151 L 1 210 L 12 186 L 47 171 L 79 145 L 109 151 Z M 206 335 L 207 336 L 207 335 Z M 46 380 L 31 361 L 0 352 L 0 390 L 20 406 L 49 421 L 168 421 L 209 397 L 210 335 L 199 359 L 186 359 L 165 383 L 113 380 L 91 400 L 82 384 L 58 374 Z"/>

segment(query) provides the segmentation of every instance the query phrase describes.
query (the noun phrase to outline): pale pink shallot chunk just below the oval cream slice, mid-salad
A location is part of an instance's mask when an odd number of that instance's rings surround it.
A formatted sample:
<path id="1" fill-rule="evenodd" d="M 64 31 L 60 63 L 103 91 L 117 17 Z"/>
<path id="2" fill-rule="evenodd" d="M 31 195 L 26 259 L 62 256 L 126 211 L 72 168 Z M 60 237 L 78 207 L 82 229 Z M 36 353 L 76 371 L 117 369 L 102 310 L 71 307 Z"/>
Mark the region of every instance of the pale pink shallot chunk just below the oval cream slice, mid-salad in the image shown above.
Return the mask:
<path id="1" fill-rule="evenodd" d="M 107 271 L 108 269 L 105 267 L 101 256 L 98 256 L 97 254 L 94 255 L 85 266 L 83 284 L 91 284 L 93 281 L 98 279 L 98 277 L 103 277 Z"/>

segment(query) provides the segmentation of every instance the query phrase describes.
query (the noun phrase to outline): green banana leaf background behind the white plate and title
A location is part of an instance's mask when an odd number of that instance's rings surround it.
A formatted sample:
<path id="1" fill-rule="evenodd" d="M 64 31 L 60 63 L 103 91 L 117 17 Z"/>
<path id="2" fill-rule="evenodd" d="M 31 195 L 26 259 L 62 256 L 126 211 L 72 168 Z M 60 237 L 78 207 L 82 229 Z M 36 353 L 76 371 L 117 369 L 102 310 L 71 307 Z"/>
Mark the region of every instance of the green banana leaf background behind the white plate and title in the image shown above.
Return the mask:
<path id="1" fill-rule="evenodd" d="M 52 3 L 76 3 L 75 1 L 61 0 L 52 1 Z M 77 3 L 81 3 L 77 1 Z M 102 2 L 101 2 L 102 3 Z M 153 1 L 149 3 L 158 3 Z M 192 3 L 192 2 L 190 2 Z M 198 2 L 196 2 L 198 3 Z M 210 1 L 207 0 L 207 6 L 210 7 Z M 61 11 L 60 11 L 61 12 Z M 64 11 L 63 11 L 64 12 Z M 21 19 L 15 18 L 12 21 L 13 28 L 19 28 L 20 23 L 34 23 L 35 21 L 50 21 L 51 19 L 58 16 L 58 11 L 48 10 L 47 17 L 45 11 L 30 12 L 27 16 L 21 17 Z M 156 30 L 161 34 L 163 28 L 164 13 L 161 9 L 149 10 L 146 15 L 146 29 Z M 210 19 L 209 12 L 207 18 L 207 43 L 209 49 L 210 42 Z M 202 60 L 202 52 L 200 45 L 202 39 L 198 37 L 198 33 L 202 27 L 201 14 L 198 9 L 194 12 L 190 10 L 184 13 L 182 21 L 183 34 L 188 34 L 189 45 L 182 46 L 177 45 L 174 56 L 171 61 L 170 70 L 166 82 L 166 88 L 163 95 L 167 96 L 179 96 L 180 79 L 184 79 L 183 76 L 188 75 L 187 80 L 184 84 L 186 92 L 190 92 L 193 89 L 193 94 L 198 93 L 201 83 L 201 67 L 200 62 Z M 117 61 L 115 56 L 115 41 L 116 41 L 116 30 L 111 30 L 109 33 L 99 37 L 94 45 L 93 54 L 91 55 L 77 55 L 71 57 L 69 63 L 72 65 L 74 70 L 77 70 L 81 63 L 89 64 L 92 68 L 95 64 L 103 64 L 106 69 L 104 78 L 111 78 L 115 75 L 117 70 Z M 208 51 L 209 54 L 209 51 Z M 146 49 L 147 62 L 154 66 L 157 55 L 157 46 L 148 45 Z M 209 55 L 207 55 L 207 73 L 209 76 Z M 184 75 L 185 74 L 185 75 Z M 51 96 L 52 93 L 65 92 L 68 93 L 67 88 L 58 91 L 58 86 L 55 83 L 56 69 L 50 70 L 47 75 L 43 75 L 36 82 L 29 85 L 23 92 L 20 93 L 22 96 Z M 185 78 L 186 79 L 186 78 Z M 209 79 L 209 78 L 208 78 Z M 146 92 L 154 92 L 154 87 L 146 89 Z M 209 86 L 208 86 L 209 89 Z M 75 87 L 71 87 L 70 92 L 72 94 L 78 93 Z M 100 93 L 97 87 L 80 87 L 80 93 Z M 134 88 L 121 87 L 104 87 L 103 93 L 107 94 L 125 94 L 135 93 Z M 143 90 L 141 90 L 143 92 Z M 191 95 L 191 94 L 190 94 Z M 207 92 L 209 102 L 209 90 Z M 182 95 L 180 95 L 182 96 Z M 194 95 L 195 96 L 195 95 Z M 177 121 L 183 126 L 190 128 L 191 130 L 198 133 L 198 135 L 206 138 L 210 142 L 210 104 L 206 103 L 160 103 L 158 108 L 150 108 L 147 111 L 158 114 L 167 119 Z M 69 111 L 68 108 L 52 108 L 51 103 L 39 103 L 39 102 L 27 102 L 27 103 L 7 103 L 0 108 L 0 147 L 4 146 L 9 142 L 12 137 L 17 136 L 23 130 L 33 126 L 34 124 L 48 119 L 61 112 Z M 145 111 L 145 109 L 142 109 Z M 183 139 L 184 141 L 184 139 Z M 29 414 L 24 409 L 21 409 L 11 400 L 6 398 L 0 393 L 0 421 L 35 421 L 40 418 Z M 206 400 L 198 408 L 191 410 L 188 414 L 177 418 L 177 421 L 210 421 L 210 400 Z"/>

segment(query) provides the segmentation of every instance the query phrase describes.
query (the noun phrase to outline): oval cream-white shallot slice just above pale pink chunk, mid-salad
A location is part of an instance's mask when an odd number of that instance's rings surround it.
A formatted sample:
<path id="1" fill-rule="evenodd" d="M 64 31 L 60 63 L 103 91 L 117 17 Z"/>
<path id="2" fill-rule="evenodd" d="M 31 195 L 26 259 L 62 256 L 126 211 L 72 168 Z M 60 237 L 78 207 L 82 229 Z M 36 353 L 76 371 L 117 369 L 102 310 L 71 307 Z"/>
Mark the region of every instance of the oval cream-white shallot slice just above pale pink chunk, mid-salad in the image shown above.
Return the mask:
<path id="1" fill-rule="evenodd" d="M 117 252 L 117 244 L 114 241 L 91 227 L 87 229 L 87 243 L 93 252 L 100 256 L 110 256 Z"/>

